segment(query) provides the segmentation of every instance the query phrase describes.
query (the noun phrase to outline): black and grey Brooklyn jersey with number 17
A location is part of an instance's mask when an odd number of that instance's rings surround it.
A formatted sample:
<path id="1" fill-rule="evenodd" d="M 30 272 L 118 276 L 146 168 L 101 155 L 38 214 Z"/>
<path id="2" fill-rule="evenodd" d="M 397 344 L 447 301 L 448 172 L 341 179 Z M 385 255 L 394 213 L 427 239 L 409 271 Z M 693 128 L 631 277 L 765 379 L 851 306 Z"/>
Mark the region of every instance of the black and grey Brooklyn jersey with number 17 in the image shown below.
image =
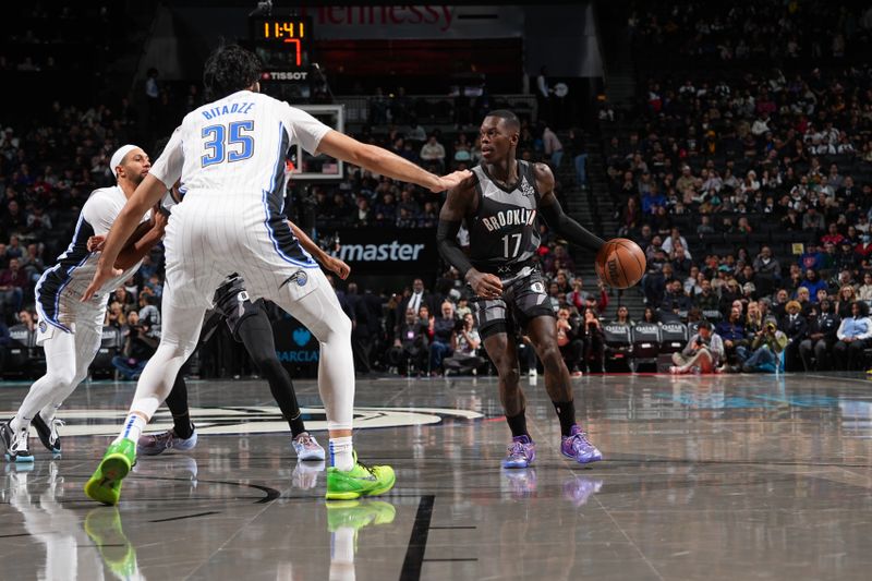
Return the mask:
<path id="1" fill-rule="evenodd" d="M 484 165 L 472 169 L 479 207 L 467 216 L 470 259 L 483 273 L 505 276 L 535 264 L 541 196 L 532 164 L 517 162 L 518 182 L 510 189 L 498 185 Z"/>

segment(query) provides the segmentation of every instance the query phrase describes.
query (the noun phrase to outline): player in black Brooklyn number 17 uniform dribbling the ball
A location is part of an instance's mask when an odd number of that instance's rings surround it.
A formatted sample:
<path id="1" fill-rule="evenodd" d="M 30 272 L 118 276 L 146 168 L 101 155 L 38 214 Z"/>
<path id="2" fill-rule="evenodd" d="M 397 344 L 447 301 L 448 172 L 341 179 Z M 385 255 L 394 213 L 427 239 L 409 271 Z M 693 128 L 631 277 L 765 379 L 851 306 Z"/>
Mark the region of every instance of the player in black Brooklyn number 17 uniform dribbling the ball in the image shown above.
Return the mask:
<path id="1" fill-rule="evenodd" d="M 475 293 L 473 311 L 485 350 L 499 374 L 499 397 L 512 434 L 502 465 L 526 468 L 536 456 L 526 429 L 518 353 L 514 341 L 509 340 L 516 325 L 530 336 L 545 367 L 545 389 L 560 419 L 562 453 L 580 463 L 594 462 L 602 460 L 602 455 L 576 423 L 569 371 L 557 347 L 556 318 L 536 253 L 536 219 L 541 215 L 558 234 L 592 251 L 604 241 L 564 214 L 554 195 L 554 174 L 546 165 L 516 158 L 520 129 L 511 111 L 492 111 L 485 117 L 482 164 L 448 193 L 439 215 L 439 252 Z M 463 221 L 470 232 L 469 257 L 457 243 Z"/>

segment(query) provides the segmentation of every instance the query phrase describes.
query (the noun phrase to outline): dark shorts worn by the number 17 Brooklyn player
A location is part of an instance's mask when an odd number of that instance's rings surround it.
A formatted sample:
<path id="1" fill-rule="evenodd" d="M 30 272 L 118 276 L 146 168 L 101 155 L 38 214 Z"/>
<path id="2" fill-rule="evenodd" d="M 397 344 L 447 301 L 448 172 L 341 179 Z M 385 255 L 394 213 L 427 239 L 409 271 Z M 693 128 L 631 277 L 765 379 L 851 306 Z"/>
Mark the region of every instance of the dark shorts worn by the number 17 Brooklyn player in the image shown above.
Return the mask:
<path id="1" fill-rule="evenodd" d="M 524 267 L 518 275 L 502 280 L 502 296 L 470 301 L 479 319 L 482 340 L 500 332 L 526 328 L 535 317 L 554 317 L 552 302 L 545 292 L 545 280 L 536 268 Z"/>

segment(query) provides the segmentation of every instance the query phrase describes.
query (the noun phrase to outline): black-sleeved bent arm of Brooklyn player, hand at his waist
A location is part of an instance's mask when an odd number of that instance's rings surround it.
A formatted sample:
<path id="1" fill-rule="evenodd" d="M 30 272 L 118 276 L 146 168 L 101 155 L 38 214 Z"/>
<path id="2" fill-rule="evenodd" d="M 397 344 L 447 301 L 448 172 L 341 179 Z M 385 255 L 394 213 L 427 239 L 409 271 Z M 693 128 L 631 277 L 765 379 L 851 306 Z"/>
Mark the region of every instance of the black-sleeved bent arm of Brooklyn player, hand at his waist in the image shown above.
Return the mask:
<path id="1" fill-rule="evenodd" d="M 470 210 L 474 194 L 475 182 L 472 178 L 464 180 L 448 192 L 448 198 L 439 211 L 436 243 L 445 262 L 458 269 L 475 294 L 485 299 L 494 299 L 502 292 L 502 282 L 494 275 L 475 269 L 457 242 L 457 233 Z"/>

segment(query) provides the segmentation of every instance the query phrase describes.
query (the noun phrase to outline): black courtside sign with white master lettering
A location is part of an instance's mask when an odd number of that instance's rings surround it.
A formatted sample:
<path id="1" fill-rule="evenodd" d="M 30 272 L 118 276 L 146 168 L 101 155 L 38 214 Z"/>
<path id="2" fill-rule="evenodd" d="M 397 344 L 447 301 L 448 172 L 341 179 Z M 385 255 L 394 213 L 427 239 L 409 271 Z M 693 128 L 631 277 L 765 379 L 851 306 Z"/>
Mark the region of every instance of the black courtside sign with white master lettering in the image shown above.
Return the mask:
<path id="1" fill-rule="evenodd" d="M 438 261 L 433 228 L 350 228 L 338 234 L 334 255 L 351 266 L 352 275 L 429 273 Z"/>

